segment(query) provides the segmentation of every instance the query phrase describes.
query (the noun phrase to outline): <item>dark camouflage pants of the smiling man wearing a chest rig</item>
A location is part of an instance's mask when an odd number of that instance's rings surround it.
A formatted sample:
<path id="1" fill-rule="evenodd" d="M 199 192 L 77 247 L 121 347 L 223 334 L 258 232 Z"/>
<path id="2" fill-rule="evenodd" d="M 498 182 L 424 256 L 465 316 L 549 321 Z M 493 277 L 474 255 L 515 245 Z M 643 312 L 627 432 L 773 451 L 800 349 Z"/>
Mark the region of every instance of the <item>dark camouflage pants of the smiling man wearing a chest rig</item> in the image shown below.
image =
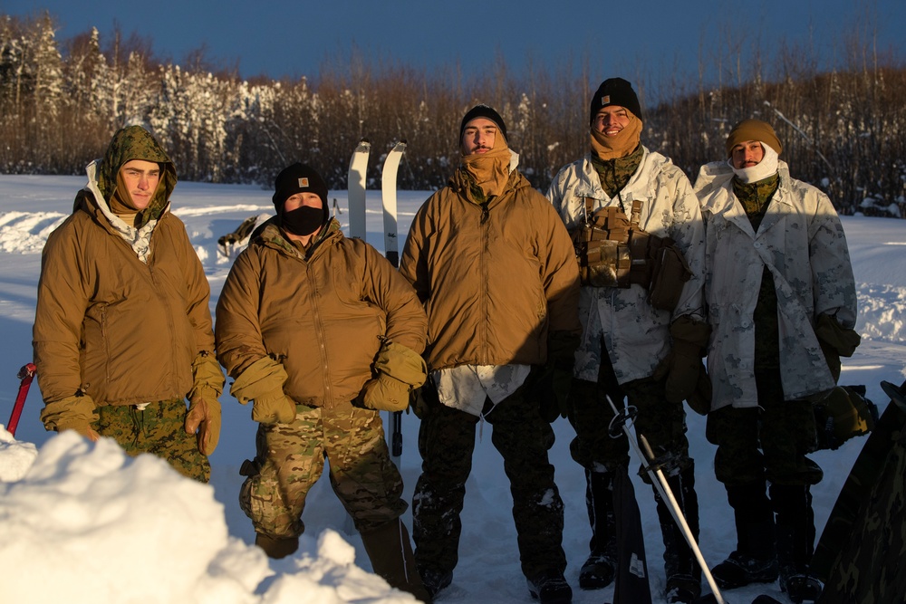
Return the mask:
<path id="1" fill-rule="evenodd" d="M 602 359 L 597 382 L 573 379 L 570 390 L 569 420 L 575 429 L 570 453 L 579 465 L 592 472 L 612 472 L 629 464 L 629 442 L 619 426 L 611 435 L 613 410 L 622 400 L 636 407 L 636 434 L 645 436 L 664 475 L 679 475 L 692 465 L 689 440 L 686 438 L 686 414 L 682 403 L 670 403 L 664 398 L 664 379 L 635 379 L 617 384 L 610 360 Z M 651 483 L 647 473 L 642 473 Z"/>

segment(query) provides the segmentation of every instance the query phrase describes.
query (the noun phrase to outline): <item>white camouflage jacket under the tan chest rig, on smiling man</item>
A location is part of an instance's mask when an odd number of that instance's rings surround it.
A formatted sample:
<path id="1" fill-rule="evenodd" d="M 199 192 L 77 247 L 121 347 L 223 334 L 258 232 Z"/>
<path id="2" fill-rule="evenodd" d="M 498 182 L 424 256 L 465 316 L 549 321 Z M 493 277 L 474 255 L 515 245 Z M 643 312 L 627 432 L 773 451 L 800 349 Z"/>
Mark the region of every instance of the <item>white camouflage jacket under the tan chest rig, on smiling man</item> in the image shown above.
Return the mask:
<path id="1" fill-rule="evenodd" d="M 641 164 L 620 195 L 608 197 L 592 166 L 591 153 L 561 168 L 547 192 L 547 198 L 573 231 L 582 221 L 585 197 L 594 199 L 593 209 L 620 206 L 626 216 L 632 202 L 642 201 L 640 226 L 653 235 L 669 236 L 686 256 L 692 278 L 683 287 L 672 316 L 648 302 L 641 285 L 628 289 L 583 287 L 579 297 L 579 318 L 583 322 L 582 343 L 576 350 L 575 377 L 597 381 L 601 366 L 602 336 L 616 377 L 621 384 L 647 378 L 670 352 L 670 322 L 681 315 L 704 320 L 702 273 L 705 259 L 705 227 L 699 201 L 689 178 L 670 158 L 643 148 Z"/>

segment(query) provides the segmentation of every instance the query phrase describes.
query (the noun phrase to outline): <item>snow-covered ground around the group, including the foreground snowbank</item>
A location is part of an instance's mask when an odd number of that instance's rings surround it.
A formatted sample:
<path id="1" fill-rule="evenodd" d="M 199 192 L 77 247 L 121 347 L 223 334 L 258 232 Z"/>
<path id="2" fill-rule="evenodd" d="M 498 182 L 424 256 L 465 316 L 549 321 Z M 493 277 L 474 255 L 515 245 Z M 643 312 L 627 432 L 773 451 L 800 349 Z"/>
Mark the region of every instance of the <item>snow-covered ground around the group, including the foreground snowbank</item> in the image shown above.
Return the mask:
<path id="1" fill-rule="evenodd" d="M 373 170 L 374 168 L 371 167 Z M 40 252 L 47 234 L 72 209 L 83 177 L 0 176 L 0 423 L 12 410 L 16 372 L 31 360 L 31 327 Z M 400 241 L 427 192 L 400 192 Z M 260 187 L 180 183 L 173 211 L 188 227 L 211 283 L 211 310 L 229 271 L 217 254 L 217 237 L 247 216 L 272 212 L 271 192 Z M 333 191 L 345 226 L 345 192 Z M 369 193 L 368 241 L 382 249 L 381 199 Z M 843 384 L 865 384 L 868 396 L 887 404 L 879 383 L 906 376 L 906 222 L 844 217 L 859 290 L 858 329 L 863 343 L 844 360 Z M 292 559 L 268 562 L 248 545 L 251 524 L 239 510 L 239 465 L 254 455 L 250 408 L 227 393 L 220 445 L 211 456 L 211 484 L 183 479 L 156 458 L 131 459 L 110 440 L 90 444 L 78 436 L 44 431 L 36 384 L 25 402 L 15 439 L 0 429 L 0 590 L 5 602 L 150 602 L 218 604 L 328 604 L 412 601 L 369 571 L 361 539 L 347 531 L 345 513 L 326 478 L 305 510 L 302 547 Z M 612 599 L 612 588 L 578 590 L 589 528 L 581 468 L 569 455 L 572 428 L 555 424 L 552 459 L 565 503 L 567 580 L 576 604 Z M 509 604 L 532 601 L 519 570 L 516 532 L 503 465 L 489 434 L 479 436 L 467 484 L 460 561 L 439 602 Z M 418 420 L 403 418 L 400 470 L 408 498 L 419 475 Z M 701 503 L 701 550 L 713 566 L 735 546 L 732 513 L 713 474 L 713 446 L 704 420 L 689 415 Z M 821 532 L 864 438 L 814 455 L 824 482 L 814 488 Z M 649 487 L 636 476 L 655 602 L 662 602 L 660 527 Z M 411 526 L 407 513 L 404 521 Z M 706 585 L 707 591 L 707 585 Z M 750 602 L 759 593 L 784 600 L 776 585 L 729 591 L 725 599 Z"/>

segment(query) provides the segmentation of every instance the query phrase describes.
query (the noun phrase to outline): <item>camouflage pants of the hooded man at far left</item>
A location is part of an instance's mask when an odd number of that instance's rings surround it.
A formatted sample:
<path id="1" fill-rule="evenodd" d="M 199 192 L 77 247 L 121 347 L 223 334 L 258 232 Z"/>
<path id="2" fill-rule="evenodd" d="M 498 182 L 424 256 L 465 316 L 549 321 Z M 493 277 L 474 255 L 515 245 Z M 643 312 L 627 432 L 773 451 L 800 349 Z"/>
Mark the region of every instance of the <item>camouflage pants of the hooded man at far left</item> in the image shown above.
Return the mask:
<path id="1" fill-rule="evenodd" d="M 181 398 L 151 403 L 141 411 L 134 405 L 104 405 L 98 407 L 99 418 L 92 427 L 114 439 L 128 455 L 157 455 L 179 474 L 207 483 L 211 465 L 198 451 L 195 435 L 186 434 L 187 412 Z"/>

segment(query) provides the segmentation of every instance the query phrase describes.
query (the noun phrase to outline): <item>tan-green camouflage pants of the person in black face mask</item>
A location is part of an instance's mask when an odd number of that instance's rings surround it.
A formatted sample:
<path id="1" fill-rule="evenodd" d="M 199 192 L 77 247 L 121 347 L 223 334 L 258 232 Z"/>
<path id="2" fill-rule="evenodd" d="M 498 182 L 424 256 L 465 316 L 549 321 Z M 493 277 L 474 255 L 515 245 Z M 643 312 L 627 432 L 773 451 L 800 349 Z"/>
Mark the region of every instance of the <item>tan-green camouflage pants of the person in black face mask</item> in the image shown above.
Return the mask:
<path id="1" fill-rule="evenodd" d="M 329 463 L 333 492 L 359 532 L 396 520 L 406 511 L 402 478 L 390 460 L 381 415 L 345 404 L 333 409 L 296 407 L 292 424 L 260 424 L 251 475 L 239 505 L 255 532 L 279 539 L 305 530 L 305 498 Z"/>

